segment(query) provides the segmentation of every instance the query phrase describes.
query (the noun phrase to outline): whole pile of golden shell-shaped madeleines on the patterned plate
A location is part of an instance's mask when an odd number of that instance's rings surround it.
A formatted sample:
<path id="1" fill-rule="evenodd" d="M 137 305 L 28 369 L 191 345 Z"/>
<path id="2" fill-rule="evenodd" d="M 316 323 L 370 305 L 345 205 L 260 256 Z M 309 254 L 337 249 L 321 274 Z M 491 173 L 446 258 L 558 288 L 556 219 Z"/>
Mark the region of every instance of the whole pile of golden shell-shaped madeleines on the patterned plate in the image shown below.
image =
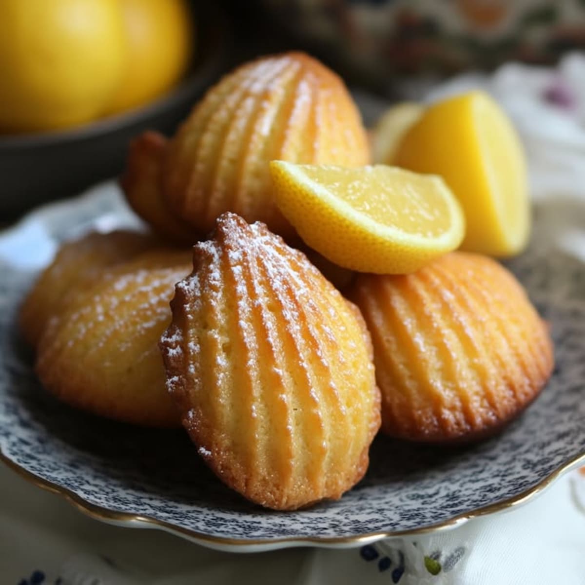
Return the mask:
<path id="1" fill-rule="evenodd" d="M 40 276 L 20 325 L 47 390 L 183 425 L 219 479 L 277 510 L 339 498 L 380 428 L 465 441 L 538 395 L 552 343 L 507 270 L 452 252 L 342 294 L 298 249 L 271 160 L 370 161 L 345 85 L 302 53 L 239 67 L 176 136 L 135 140 L 122 186 L 157 236 L 91 233 Z"/>

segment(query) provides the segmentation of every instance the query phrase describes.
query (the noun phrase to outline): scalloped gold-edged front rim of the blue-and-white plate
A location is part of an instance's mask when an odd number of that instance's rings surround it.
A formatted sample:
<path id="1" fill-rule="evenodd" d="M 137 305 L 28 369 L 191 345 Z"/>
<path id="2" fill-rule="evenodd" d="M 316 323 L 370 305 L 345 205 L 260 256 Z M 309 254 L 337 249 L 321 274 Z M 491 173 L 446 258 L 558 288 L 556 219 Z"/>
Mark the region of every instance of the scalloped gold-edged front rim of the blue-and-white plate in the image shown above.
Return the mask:
<path id="1" fill-rule="evenodd" d="M 54 494 L 59 494 L 73 507 L 80 510 L 90 518 L 98 519 L 108 524 L 128 525 L 129 527 L 136 524 L 136 528 L 140 525 L 147 525 L 152 528 L 160 528 L 165 532 L 170 532 L 177 536 L 183 536 L 183 538 L 190 539 L 191 541 L 197 542 L 204 546 L 211 548 L 218 547 L 229 547 L 229 548 L 246 548 L 252 546 L 266 546 L 267 548 L 287 548 L 288 546 L 322 546 L 322 547 L 350 547 L 351 545 L 367 545 L 376 541 L 380 541 L 384 538 L 395 538 L 399 536 L 412 536 L 419 534 L 428 534 L 429 532 L 438 532 L 456 526 L 462 525 L 472 518 L 485 516 L 488 514 L 495 514 L 508 510 L 519 504 L 524 504 L 540 494 L 547 487 L 549 487 L 554 481 L 558 480 L 560 476 L 569 472 L 573 467 L 579 467 L 579 464 L 585 464 L 585 453 L 581 453 L 570 459 L 565 464 L 558 467 L 555 471 L 539 481 L 535 486 L 528 490 L 522 491 L 518 495 L 515 495 L 506 500 L 495 504 L 489 504 L 476 510 L 469 512 L 462 512 L 453 518 L 449 518 L 438 524 L 432 524 L 430 526 L 422 526 L 421 528 L 411 528 L 409 530 L 400 531 L 378 531 L 368 532 L 366 534 L 360 534 L 355 536 L 288 536 L 286 538 L 260 538 L 260 539 L 239 539 L 239 538 L 223 538 L 222 536 L 210 536 L 202 532 L 190 530 L 188 528 L 182 528 L 170 522 L 164 522 L 157 520 L 151 516 L 142 516 L 140 514 L 132 514 L 130 512 L 116 512 L 115 510 L 109 510 L 97 504 L 91 504 L 84 500 L 80 495 L 74 493 L 74 491 L 68 488 L 59 486 L 52 481 L 43 479 L 42 477 L 36 476 L 34 473 L 21 467 L 18 463 L 13 462 L 9 459 L 0 449 L 0 461 L 4 462 L 10 469 L 18 473 L 23 479 L 30 481 L 37 487 L 43 488 L 43 490 L 50 491 Z M 294 513 L 294 512 L 293 512 Z"/>

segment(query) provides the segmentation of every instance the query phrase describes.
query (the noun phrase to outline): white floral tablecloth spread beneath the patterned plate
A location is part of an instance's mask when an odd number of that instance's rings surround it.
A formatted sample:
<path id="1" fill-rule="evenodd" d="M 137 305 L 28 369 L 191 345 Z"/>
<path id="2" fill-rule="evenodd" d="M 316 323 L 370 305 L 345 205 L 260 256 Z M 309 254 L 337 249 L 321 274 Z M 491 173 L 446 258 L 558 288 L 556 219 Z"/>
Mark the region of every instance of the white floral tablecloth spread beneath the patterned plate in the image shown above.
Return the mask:
<path id="1" fill-rule="evenodd" d="M 510 64 L 492 77 L 466 75 L 426 97 L 472 87 L 490 91 L 514 119 L 535 205 L 557 245 L 585 261 L 585 57 L 570 55 L 556 70 Z M 585 473 L 449 531 L 360 549 L 238 554 L 102 524 L 0 464 L 0 583 L 585 585 Z"/>

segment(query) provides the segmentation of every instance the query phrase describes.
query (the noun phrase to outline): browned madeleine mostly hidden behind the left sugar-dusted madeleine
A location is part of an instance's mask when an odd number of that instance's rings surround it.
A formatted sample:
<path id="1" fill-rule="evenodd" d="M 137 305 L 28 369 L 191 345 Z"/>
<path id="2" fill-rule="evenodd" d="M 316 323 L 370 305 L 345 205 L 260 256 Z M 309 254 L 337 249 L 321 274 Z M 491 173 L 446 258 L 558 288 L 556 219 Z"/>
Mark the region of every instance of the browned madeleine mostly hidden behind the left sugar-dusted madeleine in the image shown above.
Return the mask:
<path id="1" fill-rule="evenodd" d="M 36 347 L 51 316 L 67 306 L 78 288 L 99 278 L 106 267 L 128 261 L 156 245 L 152 236 L 124 230 L 92 232 L 63 244 L 20 307 L 19 326 L 27 342 Z"/>

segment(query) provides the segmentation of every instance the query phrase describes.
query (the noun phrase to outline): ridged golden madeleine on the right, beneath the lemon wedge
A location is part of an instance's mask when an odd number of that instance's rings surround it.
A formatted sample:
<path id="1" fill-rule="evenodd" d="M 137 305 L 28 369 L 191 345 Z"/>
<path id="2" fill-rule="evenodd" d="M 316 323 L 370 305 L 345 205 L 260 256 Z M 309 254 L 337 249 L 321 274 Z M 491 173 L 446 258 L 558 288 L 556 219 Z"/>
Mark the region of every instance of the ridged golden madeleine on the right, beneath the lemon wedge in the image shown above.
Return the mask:
<path id="1" fill-rule="evenodd" d="M 349 298 L 374 345 L 382 430 L 473 438 L 519 414 L 553 369 L 548 327 L 512 274 L 453 252 L 415 274 L 360 274 Z"/>

